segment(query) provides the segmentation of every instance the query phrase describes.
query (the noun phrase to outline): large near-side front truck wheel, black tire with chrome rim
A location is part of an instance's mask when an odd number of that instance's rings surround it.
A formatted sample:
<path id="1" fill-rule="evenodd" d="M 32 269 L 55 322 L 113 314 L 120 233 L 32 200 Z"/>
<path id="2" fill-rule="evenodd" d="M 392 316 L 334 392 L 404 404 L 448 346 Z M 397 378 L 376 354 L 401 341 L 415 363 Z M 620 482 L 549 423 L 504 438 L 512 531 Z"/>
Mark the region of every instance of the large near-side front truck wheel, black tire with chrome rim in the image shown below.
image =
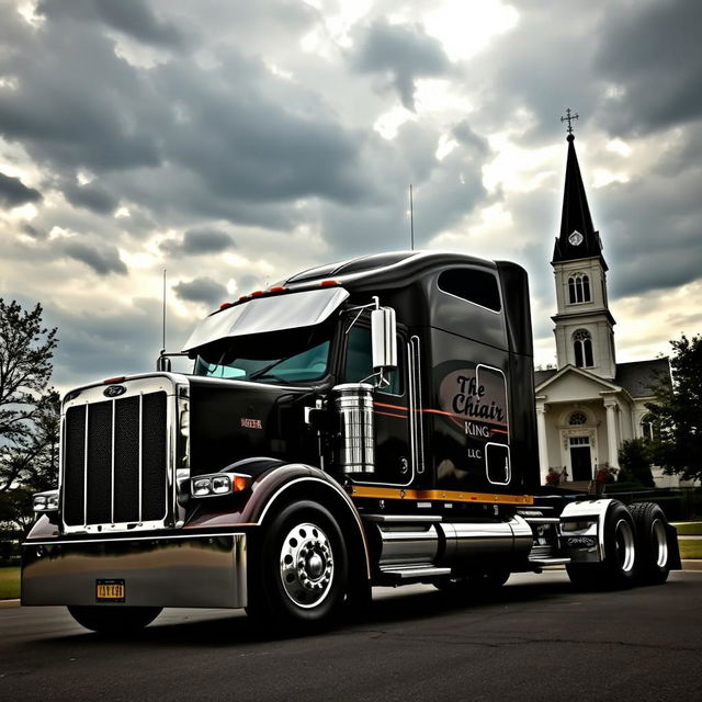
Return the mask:
<path id="1" fill-rule="evenodd" d="M 298 501 L 263 529 L 250 558 L 247 613 L 283 629 L 330 623 L 343 604 L 349 569 L 337 520 L 317 502 Z"/>

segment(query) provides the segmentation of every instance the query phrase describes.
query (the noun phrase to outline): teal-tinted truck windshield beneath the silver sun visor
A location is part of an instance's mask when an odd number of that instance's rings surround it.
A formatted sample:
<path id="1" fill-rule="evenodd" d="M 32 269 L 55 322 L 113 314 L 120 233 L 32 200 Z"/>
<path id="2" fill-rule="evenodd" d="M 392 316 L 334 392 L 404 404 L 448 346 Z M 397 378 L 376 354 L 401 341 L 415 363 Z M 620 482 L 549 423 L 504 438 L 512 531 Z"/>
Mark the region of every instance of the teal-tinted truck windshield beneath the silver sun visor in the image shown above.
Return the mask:
<path id="1" fill-rule="evenodd" d="M 278 343 L 237 344 L 219 354 L 205 353 L 195 360 L 194 374 L 260 383 L 301 383 L 317 381 L 327 374 L 329 339 L 310 340 L 305 348 L 286 349 Z"/>

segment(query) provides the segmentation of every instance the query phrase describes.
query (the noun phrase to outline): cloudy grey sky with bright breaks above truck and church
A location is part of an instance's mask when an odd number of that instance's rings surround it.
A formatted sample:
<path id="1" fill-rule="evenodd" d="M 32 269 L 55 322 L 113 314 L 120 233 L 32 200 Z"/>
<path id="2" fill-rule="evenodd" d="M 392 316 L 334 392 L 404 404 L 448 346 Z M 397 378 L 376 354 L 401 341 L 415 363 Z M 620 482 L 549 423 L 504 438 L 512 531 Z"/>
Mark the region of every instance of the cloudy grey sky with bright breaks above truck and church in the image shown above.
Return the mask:
<path id="1" fill-rule="evenodd" d="M 702 328 L 695 0 L 0 0 L 0 296 L 55 383 L 149 370 L 286 273 L 409 246 L 530 273 L 555 360 L 565 129 L 620 361 Z"/>

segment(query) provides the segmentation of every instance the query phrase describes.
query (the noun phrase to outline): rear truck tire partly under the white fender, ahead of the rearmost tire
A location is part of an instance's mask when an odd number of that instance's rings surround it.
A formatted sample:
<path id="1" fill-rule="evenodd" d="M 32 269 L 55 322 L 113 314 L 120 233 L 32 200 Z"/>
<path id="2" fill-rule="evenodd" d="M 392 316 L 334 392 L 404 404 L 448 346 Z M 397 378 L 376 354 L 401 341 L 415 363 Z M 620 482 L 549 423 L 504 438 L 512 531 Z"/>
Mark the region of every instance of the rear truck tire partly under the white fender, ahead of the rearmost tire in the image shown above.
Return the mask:
<path id="1" fill-rule="evenodd" d="M 604 517 L 604 559 L 566 566 L 570 582 L 584 589 L 622 589 L 635 584 L 636 526 L 630 511 L 613 501 Z"/>

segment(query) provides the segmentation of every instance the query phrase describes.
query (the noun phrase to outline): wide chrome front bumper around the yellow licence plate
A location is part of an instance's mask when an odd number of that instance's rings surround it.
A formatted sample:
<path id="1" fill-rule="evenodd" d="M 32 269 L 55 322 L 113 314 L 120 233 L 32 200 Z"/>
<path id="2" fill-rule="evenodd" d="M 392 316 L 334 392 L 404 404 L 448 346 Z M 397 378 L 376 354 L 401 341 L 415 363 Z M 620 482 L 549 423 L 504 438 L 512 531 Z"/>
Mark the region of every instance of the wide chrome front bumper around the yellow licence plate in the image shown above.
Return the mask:
<path id="1" fill-rule="evenodd" d="M 22 604 L 247 604 L 246 534 L 46 540 L 22 546 Z M 124 580 L 120 603 L 98 603 L 98 580 Z"/>

